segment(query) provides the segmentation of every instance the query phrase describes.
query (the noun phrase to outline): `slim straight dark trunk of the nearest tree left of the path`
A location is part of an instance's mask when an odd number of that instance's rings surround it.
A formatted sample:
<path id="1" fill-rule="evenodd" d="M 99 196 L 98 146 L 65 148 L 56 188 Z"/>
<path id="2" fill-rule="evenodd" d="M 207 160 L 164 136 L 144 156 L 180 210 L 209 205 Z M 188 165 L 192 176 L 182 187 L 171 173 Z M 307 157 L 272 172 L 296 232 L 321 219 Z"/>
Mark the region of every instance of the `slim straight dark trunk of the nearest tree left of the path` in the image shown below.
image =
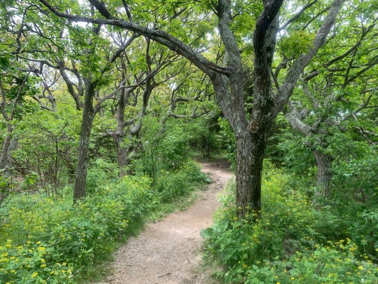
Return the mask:
<path id="1" fill-rule="evenodd" d="M 94 118 L 93 109 L 94 86 L 88 83 L 81 124 L 80 140 L 79 140 L 79 158 L 76 170 L 74 201 L 85 197 L 85 186 L 87 180 L 87 169 L 89 161 L 89 139 L 91 137 L 92 123 Z"/>

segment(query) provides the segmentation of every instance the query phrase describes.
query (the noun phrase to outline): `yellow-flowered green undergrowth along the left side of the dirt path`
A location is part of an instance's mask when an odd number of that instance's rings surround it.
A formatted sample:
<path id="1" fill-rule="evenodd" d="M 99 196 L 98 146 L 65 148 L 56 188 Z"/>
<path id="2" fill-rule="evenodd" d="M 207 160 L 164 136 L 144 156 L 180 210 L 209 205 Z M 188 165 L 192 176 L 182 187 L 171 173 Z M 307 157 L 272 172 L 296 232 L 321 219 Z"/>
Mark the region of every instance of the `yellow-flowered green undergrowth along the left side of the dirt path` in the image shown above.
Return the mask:
<path id="1" fill-rule="evenodd" d="M 200 166 L 188 161 L 155 181 L 125 176 L 75 206 L 69 189 L 55 199 L 13 196 L 0 211 L 0 282 L 82 282 L 150 215 L 169 210 L 166 204 L 175 197 L 207 181 Z"/>

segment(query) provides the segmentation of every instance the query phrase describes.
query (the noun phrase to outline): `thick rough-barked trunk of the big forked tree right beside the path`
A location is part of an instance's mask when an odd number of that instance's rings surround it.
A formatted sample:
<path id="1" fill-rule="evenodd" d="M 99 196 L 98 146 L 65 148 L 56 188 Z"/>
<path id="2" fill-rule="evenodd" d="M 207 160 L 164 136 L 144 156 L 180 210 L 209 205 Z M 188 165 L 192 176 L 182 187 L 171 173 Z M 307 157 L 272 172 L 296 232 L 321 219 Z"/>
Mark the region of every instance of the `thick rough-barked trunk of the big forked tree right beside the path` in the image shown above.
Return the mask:
<path id="1" fill-rule="evenodd" d="M 221 82 L 223 80 L 219 77 L 213 79 L 218 103 L 236 136 L 237 215 L 243 217 L 252 213 L 257 219 L 261 214 L 263 159 L 271 123 L 265 121 L 264 125 L 260 125 L 260 127 L 254 123 L 248 126 L 244 108 L 240 106 L 240 104 L 243 105 L 243 101 L 240 99 L 243 95 L 241 75 L 230 80 L 233 105 L 222 100 L 225 97 L 222 94 L 226 92 L 227 85 L 218 83 L 217 79 Z M 239 107 L 237 107 L 238 105 Z"/>

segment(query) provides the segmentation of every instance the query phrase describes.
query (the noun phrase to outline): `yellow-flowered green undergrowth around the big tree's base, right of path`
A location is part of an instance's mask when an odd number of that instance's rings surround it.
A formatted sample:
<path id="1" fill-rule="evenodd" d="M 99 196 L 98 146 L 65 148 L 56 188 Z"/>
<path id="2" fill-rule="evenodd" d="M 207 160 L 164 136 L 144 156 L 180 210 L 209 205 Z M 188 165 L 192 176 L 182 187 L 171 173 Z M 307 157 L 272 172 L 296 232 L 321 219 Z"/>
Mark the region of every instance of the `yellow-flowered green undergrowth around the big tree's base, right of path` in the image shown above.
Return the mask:
<path id="1" fill-rule="evenodd" d="M 289 186 L 289 175 L 271 164 L 265 168 L 261 219 L 254 222 L 253 216 L 236 217 L 235 183 L 230 182 L 214 224 L 201 233 L 205 259 L 222 267 L 215 272 L 217 280 L 377 283 L 374 261 L 378 248 L 367 250 L 367 245 L 354 238 L 355 228 L 344 226 L 343 217 L 327 207 L 312 206 L 305 194 Z"/>

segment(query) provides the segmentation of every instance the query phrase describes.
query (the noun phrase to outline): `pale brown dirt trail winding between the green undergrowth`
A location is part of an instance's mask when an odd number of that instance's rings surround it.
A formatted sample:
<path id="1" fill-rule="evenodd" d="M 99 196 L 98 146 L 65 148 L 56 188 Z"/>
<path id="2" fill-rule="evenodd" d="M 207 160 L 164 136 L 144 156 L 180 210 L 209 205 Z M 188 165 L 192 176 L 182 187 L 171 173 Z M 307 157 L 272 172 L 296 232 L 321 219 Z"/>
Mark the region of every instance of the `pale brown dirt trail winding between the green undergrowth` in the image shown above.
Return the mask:
<path id="1" fill-rule="evenodd" d="M 201 271 L 200 231 L 210 226 L 217 195 L 232 177 L 226 162 L 202 163 L 213 183 L 185 211 L 151 223 L 115 253 L 107 283 L 207 283 Z"/>

